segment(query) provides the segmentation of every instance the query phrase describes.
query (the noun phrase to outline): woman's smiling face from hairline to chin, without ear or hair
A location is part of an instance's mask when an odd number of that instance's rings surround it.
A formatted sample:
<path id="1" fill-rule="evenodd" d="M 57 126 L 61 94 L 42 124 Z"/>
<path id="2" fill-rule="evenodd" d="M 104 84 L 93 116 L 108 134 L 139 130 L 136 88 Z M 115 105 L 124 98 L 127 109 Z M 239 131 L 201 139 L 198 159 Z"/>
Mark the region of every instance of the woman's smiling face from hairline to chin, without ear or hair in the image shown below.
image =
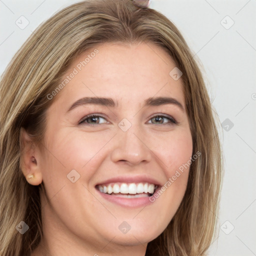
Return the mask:
<path id="1" fill-rule="evenodd" d="M 188 169 L 177 170 L 192 154 L 174 67 L 152 43 L 99 44 L 69 66 L 38 161 L 46 234 L 110 248 L 146 245 L 165 229 L 186 189 Z M 94 99 L 71 107 L 84 97 Z"/>

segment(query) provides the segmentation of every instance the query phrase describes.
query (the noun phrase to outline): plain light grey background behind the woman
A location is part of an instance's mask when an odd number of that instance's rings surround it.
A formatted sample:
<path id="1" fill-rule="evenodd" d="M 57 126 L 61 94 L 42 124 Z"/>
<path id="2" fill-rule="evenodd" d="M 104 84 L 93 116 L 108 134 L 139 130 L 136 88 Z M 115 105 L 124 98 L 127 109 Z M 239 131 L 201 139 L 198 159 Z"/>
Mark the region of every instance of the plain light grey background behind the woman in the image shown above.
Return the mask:
<path id="1" fill-rule="evenodd" d="M 41 22 L 74 2 L 0 0 L 0 74 Z M 256 255 L 256 1 L 152 0 L 149 7 L 179 28 L 202 66 L 220 122 L 228 118 L 219 127 L 225 173 L 209 255 Z M 24 29 L 15 24 L 25 24 L 21 15 L 29 21 Z"/>

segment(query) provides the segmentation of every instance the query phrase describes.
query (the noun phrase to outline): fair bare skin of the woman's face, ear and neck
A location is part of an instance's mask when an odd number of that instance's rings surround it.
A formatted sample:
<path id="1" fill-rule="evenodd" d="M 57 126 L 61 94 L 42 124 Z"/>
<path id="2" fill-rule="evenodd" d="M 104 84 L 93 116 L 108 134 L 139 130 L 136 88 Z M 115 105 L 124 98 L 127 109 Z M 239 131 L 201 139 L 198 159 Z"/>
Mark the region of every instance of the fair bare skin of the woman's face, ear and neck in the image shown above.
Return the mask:
<path id="1" fill-rule="evenodd" d="M 43 181 L 46 190 L 46 195 L 40 194 L 44 237 L 32 256 L 144 255 L 147 243 L 165 229 L 185 192 L 188 169 L 145 207 L 117 205 L 95 190 L 95 184 L 117 175 L 146 174 L 163 185 L 189 160 L 192 137 L 187 114 L 177 105 L 142 107 L 143 100 L 153 96 L 173 97 L 185 107 L 181 78 L 175 81 L 169 75 L 176 65 L 161 47 L 142 42 L 94 48 L 99 52 L 47 109 L 44 152 L 22 133 L 22 171 L 26 178 L 34 175 L 27 178 L 30 184 Z M 78 56 L 65 75 L 93 49 Z M 84 96 L 111 97 L 118 106 L 90 104 L 67 112 Z M 99 123 L 90 118 L 78 124 L 90 113 L 102 116 Z M 170 115 L 178 124 L 152 118 L 155 114 Z M 131 123 L 125 132 L 118 127 L 123 118 Z M 80 174 L 74 183 L 66 176 L 72 169 Z M 131 227 L 126 234 L 118 229 L 122 221 Z"/>

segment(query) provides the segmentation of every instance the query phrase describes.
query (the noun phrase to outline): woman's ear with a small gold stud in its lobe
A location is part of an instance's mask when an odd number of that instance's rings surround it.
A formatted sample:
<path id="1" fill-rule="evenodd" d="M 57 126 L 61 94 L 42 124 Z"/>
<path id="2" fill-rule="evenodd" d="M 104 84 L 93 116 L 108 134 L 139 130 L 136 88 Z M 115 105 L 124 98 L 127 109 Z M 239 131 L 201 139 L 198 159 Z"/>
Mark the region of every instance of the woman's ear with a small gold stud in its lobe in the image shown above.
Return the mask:
<path id="1" fill-rule="evenodd" d="M 23 127 L 20 129 L 20 169 L 31 185 L 42 182 L 42 173 L 39 168 L 39 150 Z"/>

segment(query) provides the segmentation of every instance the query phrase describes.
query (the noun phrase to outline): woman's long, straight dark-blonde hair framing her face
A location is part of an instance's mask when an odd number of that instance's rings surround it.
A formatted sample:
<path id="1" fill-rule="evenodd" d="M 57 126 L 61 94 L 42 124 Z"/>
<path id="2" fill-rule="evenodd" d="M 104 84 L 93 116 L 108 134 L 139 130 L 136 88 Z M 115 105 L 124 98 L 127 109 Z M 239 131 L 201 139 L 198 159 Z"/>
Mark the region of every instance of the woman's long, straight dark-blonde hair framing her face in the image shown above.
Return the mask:
<path id="1" fill-rule="evenodd" d="M 72 60 L 97 43 L 153 42 L 182 71 L 193 140 L 187 188 L 165 230 L 145 255 L 206 255 L 214 235 L 221 184 L 221 148 L 202 74 L 184 38 L 160 12 L 131 0 L 87 0 L 72 4 L 40 25 L 15 54 L 0 81 L 0 255 L 30 255 L 42 238 L 39 186 L 20 167 L 20 130 L 42 146 L 51 93 Z M 29 231 L 15 226 L 23 220 Z"/>

